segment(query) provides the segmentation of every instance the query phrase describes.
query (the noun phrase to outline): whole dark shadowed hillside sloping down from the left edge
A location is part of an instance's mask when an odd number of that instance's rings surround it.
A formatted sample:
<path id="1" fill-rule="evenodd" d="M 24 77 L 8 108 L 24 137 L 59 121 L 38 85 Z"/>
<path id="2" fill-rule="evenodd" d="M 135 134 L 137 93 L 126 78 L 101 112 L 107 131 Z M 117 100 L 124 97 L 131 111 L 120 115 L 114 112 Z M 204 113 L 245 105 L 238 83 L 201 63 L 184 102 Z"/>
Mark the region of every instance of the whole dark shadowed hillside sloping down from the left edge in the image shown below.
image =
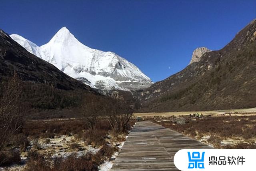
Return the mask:
<path id="1" fill-rule="evenodd" d="M 39 112 L 46 117 L 76 117 L 79 110 L 75 109 L 81 105 L 85 108 L 84 113 L 92 114 L 96 105 L 111 107 L 115 103 L 110 97 L 34 56 L 0 30 L 0 98 L 3 88 L 14 75 L 20 82 L 18 89 L 22 90 L 20 103 L 16 105 L 26 105 L 27 115 Z"/>

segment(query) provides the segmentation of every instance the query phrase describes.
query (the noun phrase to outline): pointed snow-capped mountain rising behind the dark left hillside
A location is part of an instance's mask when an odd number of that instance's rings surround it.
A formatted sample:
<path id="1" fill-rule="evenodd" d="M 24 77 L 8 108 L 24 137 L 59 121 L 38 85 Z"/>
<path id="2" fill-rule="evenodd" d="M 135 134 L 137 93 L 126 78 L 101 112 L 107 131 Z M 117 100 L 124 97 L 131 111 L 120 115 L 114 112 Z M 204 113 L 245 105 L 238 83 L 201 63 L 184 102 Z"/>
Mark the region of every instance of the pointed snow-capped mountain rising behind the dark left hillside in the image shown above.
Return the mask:
<path id="1" fill-rule="evenodd" d="M 17 34 L 10 37 L 28 52 L 94 88 L 136 90 L 152 84 L 150 78 L 134 64 L 113 52 L 85 46 L 66 27 L 61 28 L 50 42 L 42 46 Z"/>

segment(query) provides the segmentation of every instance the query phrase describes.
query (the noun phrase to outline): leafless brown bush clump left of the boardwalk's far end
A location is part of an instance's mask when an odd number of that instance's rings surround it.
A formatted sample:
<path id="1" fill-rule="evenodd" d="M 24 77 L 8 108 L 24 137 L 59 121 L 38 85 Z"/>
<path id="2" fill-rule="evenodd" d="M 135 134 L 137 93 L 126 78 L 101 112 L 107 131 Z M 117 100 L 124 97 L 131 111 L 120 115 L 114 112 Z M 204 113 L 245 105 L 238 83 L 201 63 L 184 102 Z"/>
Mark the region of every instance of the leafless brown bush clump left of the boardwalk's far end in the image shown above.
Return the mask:
<path id="1" fill-rule="evenodd" d="M 105 102 L 106 99 L 103 97 L 92 96 L 90 99 L 85 98 L 81 107 L 81 113 L 84 115 L 87 127 L 87 143 L 89 144 L 102 145 L 108 131 L 111 130 L 113 135 L 118 135 L 127 132 L 127 129 L 130 128 L 128 122 L 133 113 L 132 104 L 114 99 L 109 99 L 108 104 Z M 102 130 L 100 128 L 99 123 L 102 119 L 107 121 L 108 129 Z"/>

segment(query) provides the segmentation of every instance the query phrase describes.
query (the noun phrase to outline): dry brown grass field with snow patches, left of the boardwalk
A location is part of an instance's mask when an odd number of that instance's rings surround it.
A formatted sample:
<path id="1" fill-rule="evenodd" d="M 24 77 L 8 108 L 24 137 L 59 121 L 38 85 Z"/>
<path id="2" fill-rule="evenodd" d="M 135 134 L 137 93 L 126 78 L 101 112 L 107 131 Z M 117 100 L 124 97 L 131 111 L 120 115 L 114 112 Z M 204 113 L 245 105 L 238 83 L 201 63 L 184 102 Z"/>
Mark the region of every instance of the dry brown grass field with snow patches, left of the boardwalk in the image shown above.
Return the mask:
<path id="1" fill-rule="evenodd" d="M 27 120 L 0 151 L 0 170 L 97 171 L 120 150 L 134 120 L 121 131 L 95 121 Z"/>

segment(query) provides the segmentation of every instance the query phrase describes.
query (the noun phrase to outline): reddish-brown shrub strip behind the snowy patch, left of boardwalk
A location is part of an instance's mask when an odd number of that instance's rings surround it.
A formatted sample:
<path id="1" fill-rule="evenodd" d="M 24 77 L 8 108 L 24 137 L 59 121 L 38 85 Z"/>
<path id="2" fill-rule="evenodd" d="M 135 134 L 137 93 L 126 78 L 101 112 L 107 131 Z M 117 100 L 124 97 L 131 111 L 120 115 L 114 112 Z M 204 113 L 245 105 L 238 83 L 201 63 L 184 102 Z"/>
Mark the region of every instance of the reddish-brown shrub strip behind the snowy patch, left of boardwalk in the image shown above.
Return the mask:
<path id="1" fill-rule="evenodd" d="M 105 119 L 98 119 L 94 129 L 87 129 L 84 119 L 64 121 L 27 121 L 23 134 L 34 137 L 53 138 L 55 135 L 74 135 L 96 146 L 105 143 L 104 138 L 108 134 L 110 125 Z"/>

